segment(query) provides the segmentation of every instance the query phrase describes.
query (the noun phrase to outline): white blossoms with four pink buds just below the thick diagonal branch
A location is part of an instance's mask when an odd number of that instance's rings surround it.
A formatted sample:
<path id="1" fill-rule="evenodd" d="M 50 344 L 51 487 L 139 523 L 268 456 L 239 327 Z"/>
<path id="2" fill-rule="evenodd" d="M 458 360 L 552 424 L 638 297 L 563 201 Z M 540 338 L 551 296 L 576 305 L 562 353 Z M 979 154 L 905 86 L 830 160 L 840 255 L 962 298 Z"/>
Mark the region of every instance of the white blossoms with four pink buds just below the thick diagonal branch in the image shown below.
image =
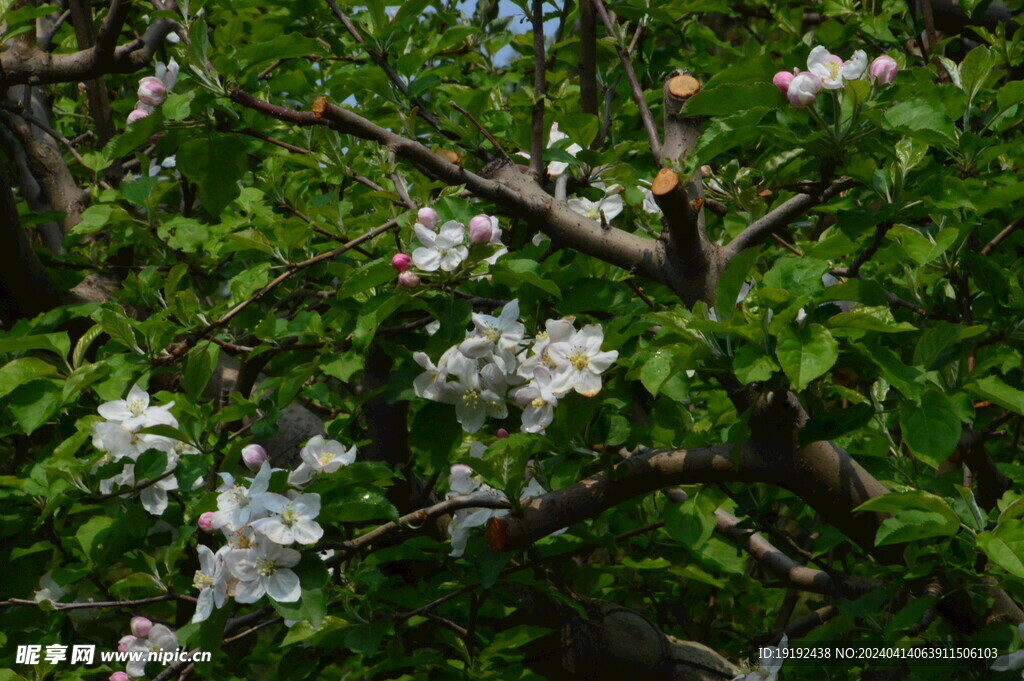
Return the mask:
<path id="1" fill-rule="evenodd" d="M 464 245 L 466 226 L 462 222 L 449 220 L 435 231 L 437 211 L 429 207 L 421 208 L 416 219 L 413 230 L 420 242 L 420 248 L 413 251 L 412 257 L 407 253 L 395 253 L 391 258 L 391 266 L 398 271 L 398 284 L 407 289 L 420 285 L 420 274 L 410 269 L 413 265 L 420 272 L 435 272 L 438 269 L 452 272 L 470 258 L 470 248 Z M 495 264 L 498 258 L 508 252 L 502 244 L 498 218 L 493 215 L 476 215 L 469 221 L 469 242 L 473 248 L 489 248 L 494 251 L 489 256 L 481 258 L 487 264 Z"/>

